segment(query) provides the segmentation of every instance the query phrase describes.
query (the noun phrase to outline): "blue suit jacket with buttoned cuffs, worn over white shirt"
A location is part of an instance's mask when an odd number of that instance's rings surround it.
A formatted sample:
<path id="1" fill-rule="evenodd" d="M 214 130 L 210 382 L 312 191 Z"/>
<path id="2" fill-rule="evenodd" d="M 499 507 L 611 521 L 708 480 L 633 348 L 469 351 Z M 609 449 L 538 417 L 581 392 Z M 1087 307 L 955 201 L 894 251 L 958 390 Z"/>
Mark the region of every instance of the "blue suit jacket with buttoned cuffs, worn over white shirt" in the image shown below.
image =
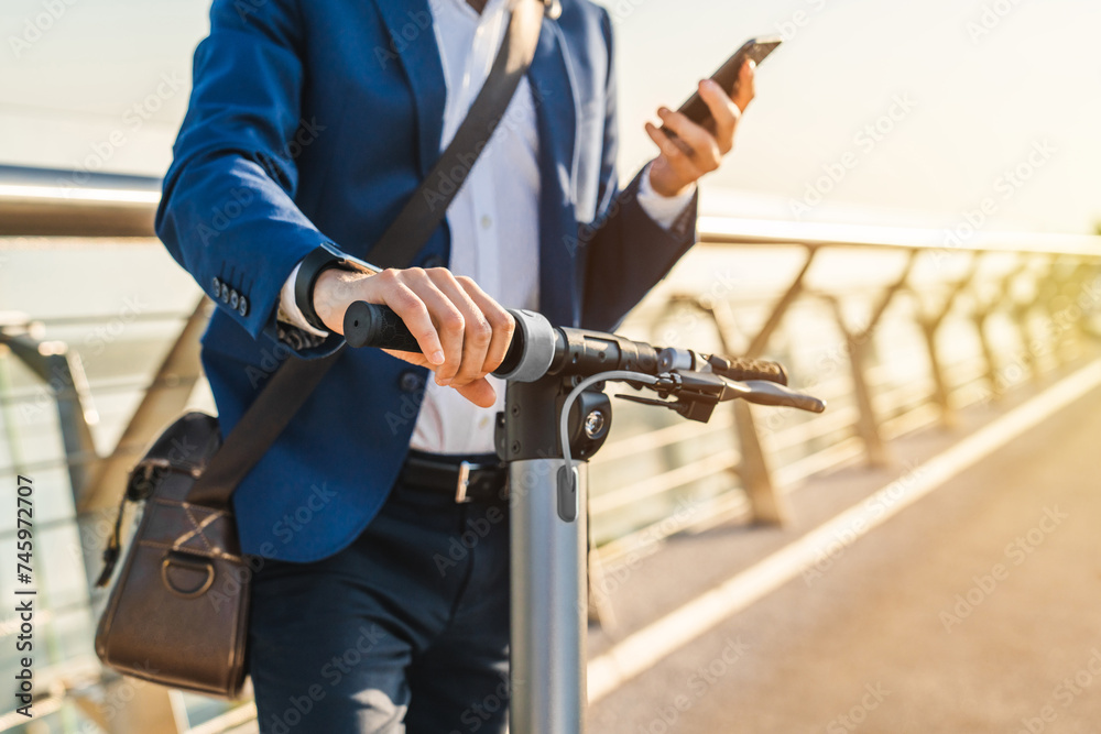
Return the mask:
<path id="1" fill-rule="evenodd" d="M 695 241 L 615 173 L 608 13 L 563 0 L 530 72 L 543 171 L 541 309 L 611 329 Z M 280 288 L 323 241 L 371 244 L 439 155 L 445 84 L 426 0 L 215 0 L 157 211 L 157 234 L 218 308 L 203 364 L 224 435 L 292 350 Z M 415 264 L 447 262 L 442 226 Z M 217 278 L 217 283 L 216 283 Z M 222 296 L 236 292 L 237 298 Z M 246 552 L 293 561 L 355 539 L 397 476 L 427 372 L 346 350 L 233 495 Z"/>

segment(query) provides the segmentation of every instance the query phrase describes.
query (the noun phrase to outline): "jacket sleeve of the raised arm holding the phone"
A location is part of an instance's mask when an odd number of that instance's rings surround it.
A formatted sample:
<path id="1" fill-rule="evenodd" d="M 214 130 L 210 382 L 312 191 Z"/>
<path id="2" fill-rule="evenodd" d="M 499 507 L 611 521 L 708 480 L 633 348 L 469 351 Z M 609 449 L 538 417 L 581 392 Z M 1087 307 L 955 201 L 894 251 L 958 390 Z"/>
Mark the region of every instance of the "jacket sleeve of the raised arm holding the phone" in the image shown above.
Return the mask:
<path id="1" fill-rule="evenodd" d="M 601 12 L 611 58 L 611 20 L 607 10 L 601 9 Z M 696 243 L 698 196 L 693 197 L 680 219 L 665 229 L 639 204 L 641 174 L 620 190 L 615 169 L 615 74 L 609 62 L 600 204 L 597 207 L 600 215 L 591 224 L 582 224 L 577 238 L 579 255 L 585 259 L 581 320 L 584 326 L 600 330 L 614 329 Z"/>

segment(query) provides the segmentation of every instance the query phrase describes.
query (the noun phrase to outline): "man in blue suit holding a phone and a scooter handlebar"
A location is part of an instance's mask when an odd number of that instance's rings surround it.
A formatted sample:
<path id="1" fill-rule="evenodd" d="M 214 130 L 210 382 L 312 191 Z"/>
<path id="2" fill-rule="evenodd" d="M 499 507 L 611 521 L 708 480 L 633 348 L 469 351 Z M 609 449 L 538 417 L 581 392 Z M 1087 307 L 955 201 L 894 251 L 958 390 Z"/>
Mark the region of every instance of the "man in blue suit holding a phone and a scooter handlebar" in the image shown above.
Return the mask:
<path id="1" fill-rule="evenodd" d="M 659 154 L 621 190 L 610 19 L 560 0 L 414 267 L 324 270 L 303 300 L 319 247 L 368 256 L 469 110 L 510 8 L 532 1 L 214 2 L 156 226 L 218 305 L 203 362 L 222 431 L 284 359 L 337 350 L 355 300 L 391 305 L 424 353 L 346 350 L 233 495 L 263 559 L 263 732 L 504 731 L 503 390 L 488 377 L 504 307 L 618 325 L 694 243 L 695 182 L 753 97 L 746 65 L 734 99 L 700 83 L 712 128 L 662 108 L 676 134 L 647 123 Z"/>

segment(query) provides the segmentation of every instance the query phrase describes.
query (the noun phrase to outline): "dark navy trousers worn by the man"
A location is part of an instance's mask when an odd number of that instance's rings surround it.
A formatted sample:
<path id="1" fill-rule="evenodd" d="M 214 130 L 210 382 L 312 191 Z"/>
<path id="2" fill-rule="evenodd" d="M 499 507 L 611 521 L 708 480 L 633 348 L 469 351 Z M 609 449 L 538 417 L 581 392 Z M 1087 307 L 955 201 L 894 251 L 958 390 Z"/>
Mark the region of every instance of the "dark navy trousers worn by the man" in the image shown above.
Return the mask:
<path id="1" fill-rule="evenodd" d="M 249 646 L 261 734 L 503 734 L 508 502 L 399 484 L 337 555 L 264 561 Z"/>

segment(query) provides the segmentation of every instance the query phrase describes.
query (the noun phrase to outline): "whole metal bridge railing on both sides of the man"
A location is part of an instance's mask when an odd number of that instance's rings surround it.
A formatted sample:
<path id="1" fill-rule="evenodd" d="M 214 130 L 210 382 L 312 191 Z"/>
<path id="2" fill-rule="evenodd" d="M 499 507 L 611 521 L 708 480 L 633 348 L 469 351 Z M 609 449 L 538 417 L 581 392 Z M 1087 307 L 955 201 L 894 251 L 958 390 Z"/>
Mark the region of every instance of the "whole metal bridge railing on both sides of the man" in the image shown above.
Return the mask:
<path id="1" fill-rule="evenodd" d="M 48 252 L 58 242 L 50 238 L 74 235 L 115 256 L 133 245 L 160 259 L 163 273 L 154 277 L 179 275 L 151 239 L 155 182 L 91 176 L 73 196 L 66 180 L 0 169 L 0 280 L 12 277 L 17 251 Z M 603 624 L 614 623 L 614 579 L 606 570 L 632 554 L 684 529 L 789 522 L 787 494 L 800 480 L 843 462 L 890 463 L 894 437 L 930 425 L 951 429 L 964 407 L 995 403 L 1094 349 L 1101 238 L 722 218 L 702 218 L 699 229 L 701 244 L 624 331 L 780 359 L 794 385 L 830 408 L 808 420 L 735 403 L 700 425 L 618 403 L 591 482 L 591 598 Z M 63 242 L 58 252 L 70 252 L 73 240 Z M 80 310 L 87 294 L 68 295 Z M 192 723 L 181 710 L 203 721 L 218 708 L 196 698 L 184 706 L 176 693 L 105 679 L 90 650 L 102 595 L 88 582 L 122 476 L 194 403 L 196 388 L 205 392 L 198 336 L 212 306 L 197 288 L 177 300 L 184 306 L 134 314 L 44 315 L 35 307 L 0 316 L 0 480 L 33 471 L 72 490 L 51 497 L 51 515 L 37 526 L 67 549 L 43 568 L 66 583 L 43 599 L 37 617 L 53 650 L 37 683 L 40 711 L 54 710 L 68 731 L 95 731 L 85 727 L 92 721 L 119 732 L 185 731 Z M 13 528 L 0 527 L 0 548 L 13 541 Z M 0 638 L 11 634 L 0 628 Z M 201 731 L 222 731 L 247 713 Z M 0 712 L 0 731 L 21 723 Z"/>

